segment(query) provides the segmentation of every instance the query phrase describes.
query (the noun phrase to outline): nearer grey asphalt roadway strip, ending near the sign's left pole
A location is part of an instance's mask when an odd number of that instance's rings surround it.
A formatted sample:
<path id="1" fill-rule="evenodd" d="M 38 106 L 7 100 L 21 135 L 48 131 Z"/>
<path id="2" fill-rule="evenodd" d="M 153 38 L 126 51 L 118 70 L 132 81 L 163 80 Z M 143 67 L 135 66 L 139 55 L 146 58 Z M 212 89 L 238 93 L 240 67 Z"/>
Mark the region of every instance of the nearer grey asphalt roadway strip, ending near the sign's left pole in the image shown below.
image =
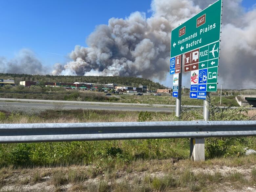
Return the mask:
<path id="1" fill-rule="evenodd" d="M 173 112 L 174 108 L 166 107 L 138 107 L 138 106 L 107 106 L 107 105 L 72 105 L 72 104 L 52 104 L 52 103 L 20 103 L 20 102 L 0 102 L 0 105 L 46 108 L 46 109 L 91 109 L 110 111 L 150 111 L 150 112 Z"/>

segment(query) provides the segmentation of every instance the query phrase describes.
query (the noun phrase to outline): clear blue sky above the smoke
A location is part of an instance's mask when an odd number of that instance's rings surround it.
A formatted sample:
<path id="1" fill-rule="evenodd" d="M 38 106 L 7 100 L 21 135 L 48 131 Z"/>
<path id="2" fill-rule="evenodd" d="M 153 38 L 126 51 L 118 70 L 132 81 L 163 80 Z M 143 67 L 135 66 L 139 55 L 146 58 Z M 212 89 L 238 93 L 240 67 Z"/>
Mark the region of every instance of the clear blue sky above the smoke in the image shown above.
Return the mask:
<path id="1" fill-rule="evenodd" d="M 31 49 L 51 67 L 67 61 L 75 45 L 86 46 L 86 37 L 96 25 L 131 12 L 151 15 L 150 0 L 5 0 L 0 2 L 0 56 L 14 57 L 22 48 Z M 250 8 L 255 0 L 244 0 Z M 47 53 L 49 52 L 49 53 Z M 51 54 L 56 53 L 56 54 Z"/>

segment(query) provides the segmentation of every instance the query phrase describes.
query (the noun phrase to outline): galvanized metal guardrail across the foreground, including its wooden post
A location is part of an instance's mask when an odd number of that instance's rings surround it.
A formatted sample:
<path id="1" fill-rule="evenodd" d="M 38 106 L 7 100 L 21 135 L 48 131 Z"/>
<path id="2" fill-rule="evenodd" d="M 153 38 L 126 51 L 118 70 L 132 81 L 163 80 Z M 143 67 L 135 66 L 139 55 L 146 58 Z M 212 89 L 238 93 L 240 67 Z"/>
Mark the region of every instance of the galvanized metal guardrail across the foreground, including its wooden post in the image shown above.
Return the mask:
<path id="1" fill-rule="evenodd" d="M 160 121 L 0 124 L 0 143 L 190 138 L 190 156 L 204 160 L 204 138 L 256 135 L 256 121 Z"/>

